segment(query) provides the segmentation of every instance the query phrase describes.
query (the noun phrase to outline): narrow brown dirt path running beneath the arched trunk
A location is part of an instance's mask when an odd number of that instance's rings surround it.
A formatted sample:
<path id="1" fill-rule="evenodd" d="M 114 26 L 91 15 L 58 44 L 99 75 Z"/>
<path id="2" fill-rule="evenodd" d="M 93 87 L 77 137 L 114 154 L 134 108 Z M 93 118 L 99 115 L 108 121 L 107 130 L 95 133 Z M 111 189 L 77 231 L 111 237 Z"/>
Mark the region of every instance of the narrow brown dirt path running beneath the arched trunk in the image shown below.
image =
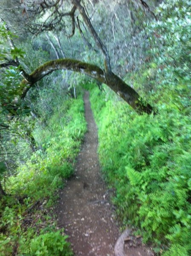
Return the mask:
<path id="1" fill-rule="evenodd" d="M 76 256 L 113 256 L 119 232 L 99 173 L 97 128 L 87 91 L 84 104 L 88 131 L 78 156 L 75 177 L 61 192 L 58 219 L 69 235 Z"/>

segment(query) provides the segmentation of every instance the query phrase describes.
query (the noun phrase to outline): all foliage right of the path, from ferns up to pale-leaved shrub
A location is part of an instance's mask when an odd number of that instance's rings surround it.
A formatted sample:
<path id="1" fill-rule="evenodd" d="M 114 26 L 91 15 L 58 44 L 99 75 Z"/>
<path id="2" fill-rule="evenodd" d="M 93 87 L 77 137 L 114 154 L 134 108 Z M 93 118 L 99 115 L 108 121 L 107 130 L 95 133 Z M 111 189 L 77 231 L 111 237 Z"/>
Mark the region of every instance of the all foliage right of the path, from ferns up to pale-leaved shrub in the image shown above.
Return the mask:
<path id="1" fill-rule="evenodd" d="M 142 96 L 150 90 L 155 116 L 138 116 L 106 88 L 91 93 L 119 218 L 171 256 L 191 253 L 190 11 L 190 1 L 159 8 L 160 21 L 147 26 L 150 62 L 126 77 Z"/>

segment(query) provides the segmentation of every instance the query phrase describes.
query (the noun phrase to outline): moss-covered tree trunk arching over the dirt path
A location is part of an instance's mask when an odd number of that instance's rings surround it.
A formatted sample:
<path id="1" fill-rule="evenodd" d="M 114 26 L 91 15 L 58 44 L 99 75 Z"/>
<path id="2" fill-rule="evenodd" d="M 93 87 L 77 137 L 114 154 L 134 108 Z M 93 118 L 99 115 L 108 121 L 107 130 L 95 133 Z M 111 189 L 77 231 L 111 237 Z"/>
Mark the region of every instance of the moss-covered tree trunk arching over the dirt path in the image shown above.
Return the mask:
<path id="1" fill-rule="evenodd" d="M 100 67 L 81 62 L 74 59 L 58 59 L 48 61 L 42 66 L 38 67 L 29 75 L 29 80 L 22 81 L 23 93 L 21 99 L 24 99 L 27 91 L 44 76 L 52 73 L 55 70 L 72 70 L 90 76 L 97 81 L 107 84 L 114 92 L 116 92 L 122 99 L 124 99 L 137 112 L 151 113 L 153 108 L 144 103 L 143 99 L 136 91 L 127 85 L 122 79 L 116 76 L 113 72 L 107 72 Z"/>

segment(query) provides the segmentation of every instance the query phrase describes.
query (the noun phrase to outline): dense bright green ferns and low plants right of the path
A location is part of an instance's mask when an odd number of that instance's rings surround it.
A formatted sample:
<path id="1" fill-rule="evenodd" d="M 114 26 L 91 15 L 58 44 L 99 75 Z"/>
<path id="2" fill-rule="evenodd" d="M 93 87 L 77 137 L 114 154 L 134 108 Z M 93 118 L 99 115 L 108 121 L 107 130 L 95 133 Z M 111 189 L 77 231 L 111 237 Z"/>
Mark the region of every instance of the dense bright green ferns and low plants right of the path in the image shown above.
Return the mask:
<path id="1" fill-rule="evenodd" d="M 113 96 L 91 91 L 104 176 L 116 188 L 122 223 L 139 227 L 156 252 L 191 252 L 191 121 L 178 109 L 138 116 Z M 162 249 L 162 250 L 161 250 Z"/>

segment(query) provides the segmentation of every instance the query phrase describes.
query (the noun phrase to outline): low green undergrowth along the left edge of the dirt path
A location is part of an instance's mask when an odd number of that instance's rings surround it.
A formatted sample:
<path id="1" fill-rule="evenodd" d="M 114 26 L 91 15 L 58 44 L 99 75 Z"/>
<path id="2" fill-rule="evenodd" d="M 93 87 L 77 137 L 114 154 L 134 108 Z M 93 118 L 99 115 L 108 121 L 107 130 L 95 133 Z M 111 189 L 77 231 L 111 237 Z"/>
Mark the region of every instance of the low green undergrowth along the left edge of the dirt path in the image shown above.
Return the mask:
<path id="1" fill-rule="evenodd" d="M 40 138 L 41 150 L 9 177 L 7 192 L 12 196 L 0 202 L 0 255 L 73 255 L 52 216 L 58 190 L 73 173 L 85 131 L 81 96 L 66 100 L 46 125 L 36 127 L 34 137 Z"/>

